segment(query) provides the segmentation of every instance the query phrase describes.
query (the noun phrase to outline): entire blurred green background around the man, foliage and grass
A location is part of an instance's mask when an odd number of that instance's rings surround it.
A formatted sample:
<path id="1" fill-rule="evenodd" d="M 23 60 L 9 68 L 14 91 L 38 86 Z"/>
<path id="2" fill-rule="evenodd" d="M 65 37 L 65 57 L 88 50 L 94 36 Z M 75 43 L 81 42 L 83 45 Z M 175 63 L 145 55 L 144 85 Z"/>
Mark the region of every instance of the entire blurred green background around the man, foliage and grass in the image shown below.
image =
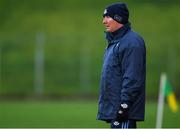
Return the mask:
<path id="1" fill-rule="evenodd" d="M 102 14 L 112 2 L 0 0 L 0 127 L 109 127 L 96 114 Z M 180 97 L 180 2 L 124 2 L 147 48 L 146 121 L 138 127 L 153 128 L 162 72 Z M 179 121 L 165 104 L 163 127 Z"/>

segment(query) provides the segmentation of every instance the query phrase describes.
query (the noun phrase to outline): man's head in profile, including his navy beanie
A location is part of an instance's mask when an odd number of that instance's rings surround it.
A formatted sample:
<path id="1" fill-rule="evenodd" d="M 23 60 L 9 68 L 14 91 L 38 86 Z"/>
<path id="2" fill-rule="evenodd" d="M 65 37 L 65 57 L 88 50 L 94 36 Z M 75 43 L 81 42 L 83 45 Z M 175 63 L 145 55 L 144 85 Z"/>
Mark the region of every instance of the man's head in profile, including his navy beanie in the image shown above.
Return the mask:
<path id="1" fill-rule="evenodd" d="M 107 32 L 114 32 L 129 21 L 129 11 L 125 3 L 114 3 L 106 7 L 103 24 Z"/>

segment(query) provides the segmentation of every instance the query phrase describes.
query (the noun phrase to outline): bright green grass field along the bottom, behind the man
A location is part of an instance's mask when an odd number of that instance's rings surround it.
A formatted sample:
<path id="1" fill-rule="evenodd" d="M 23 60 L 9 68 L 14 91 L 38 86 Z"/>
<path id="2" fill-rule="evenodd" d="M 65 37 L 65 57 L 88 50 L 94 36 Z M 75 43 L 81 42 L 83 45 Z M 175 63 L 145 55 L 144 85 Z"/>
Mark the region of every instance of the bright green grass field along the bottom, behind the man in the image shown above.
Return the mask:
<path id="1" fill-rule="evenodd" d="M 0 128 L 102 128 L 108 124 L 96 120 L 95 101 L 1 101 Z M 153 128 L 156 104 L 146 104 L 146 121 L 138 127 Z M 164 108 L 163 127 L 180 127 L 180 112 Z"/>

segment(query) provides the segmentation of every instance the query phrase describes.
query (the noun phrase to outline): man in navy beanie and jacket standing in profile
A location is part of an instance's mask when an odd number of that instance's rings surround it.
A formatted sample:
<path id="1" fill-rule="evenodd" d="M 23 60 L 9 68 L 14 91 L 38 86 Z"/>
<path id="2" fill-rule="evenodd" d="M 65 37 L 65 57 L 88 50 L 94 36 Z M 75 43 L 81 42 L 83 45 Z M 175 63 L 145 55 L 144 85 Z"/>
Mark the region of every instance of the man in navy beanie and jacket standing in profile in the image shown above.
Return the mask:
<path id="1" fill-rule="evenodd" d="M 97 119 L 111 128 L 136 128 L 144 120 L 146 49 L 131 30 L 125 3 L 109 5 L 103 14 L 108 46 L 104 55 Z"/>

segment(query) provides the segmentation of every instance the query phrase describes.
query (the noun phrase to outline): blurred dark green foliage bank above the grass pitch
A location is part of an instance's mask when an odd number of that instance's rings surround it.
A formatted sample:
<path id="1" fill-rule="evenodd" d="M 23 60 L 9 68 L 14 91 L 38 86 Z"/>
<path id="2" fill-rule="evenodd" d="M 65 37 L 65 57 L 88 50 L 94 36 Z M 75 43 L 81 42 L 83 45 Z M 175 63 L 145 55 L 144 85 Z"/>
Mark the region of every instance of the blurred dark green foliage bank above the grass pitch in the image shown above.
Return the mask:
<path id="1" fill-rule="evenodd" d="M 106 47 L 102 12 L 112 2 L 0 0 L 0 95 L 35 95 L 36 36 L 43 33 L 43 95 L 96 96 Z M 147 97 L 157 97 L 161 72 L 168 73 L 178 93 L 179 1 L 125 2 L 129 6 L 132 28 L 146 42 Z M 86 83 L 83 83 L 83 78 Z"/>

